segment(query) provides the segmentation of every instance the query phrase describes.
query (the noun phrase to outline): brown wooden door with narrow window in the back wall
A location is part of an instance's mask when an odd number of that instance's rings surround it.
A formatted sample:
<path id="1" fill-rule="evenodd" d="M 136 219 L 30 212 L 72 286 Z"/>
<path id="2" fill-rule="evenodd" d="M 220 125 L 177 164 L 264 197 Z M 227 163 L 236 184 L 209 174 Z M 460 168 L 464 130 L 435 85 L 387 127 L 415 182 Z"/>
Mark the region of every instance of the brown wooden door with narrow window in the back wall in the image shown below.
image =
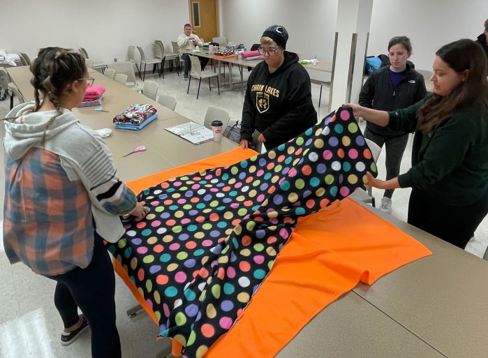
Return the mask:
<path id="1" fill-rule="evenodd" d="M 219 36 L 219 0 L 188 0 L 193 32 L 205 42 Z"/>

